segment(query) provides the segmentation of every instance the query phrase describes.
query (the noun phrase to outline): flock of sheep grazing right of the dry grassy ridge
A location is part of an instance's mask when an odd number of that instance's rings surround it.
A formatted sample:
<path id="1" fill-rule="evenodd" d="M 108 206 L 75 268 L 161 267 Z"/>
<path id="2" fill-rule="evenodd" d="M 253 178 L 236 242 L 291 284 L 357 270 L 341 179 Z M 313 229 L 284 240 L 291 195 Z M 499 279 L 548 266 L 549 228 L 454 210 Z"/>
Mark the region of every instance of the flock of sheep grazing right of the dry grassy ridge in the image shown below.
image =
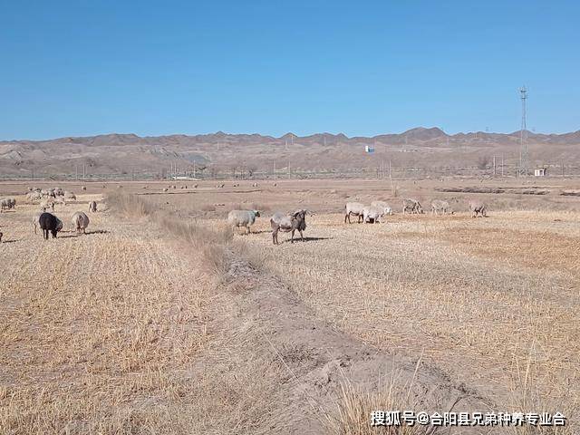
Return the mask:
<path id="1" fill-rule="evenodd" d="M 487 210 L 485 203 L 478 200 L 470 200 L 468 203 L 471 216 L 476 218 L 487 217 Z M 384 201 L 372 201 L 370 206 L 365 206 L 360 202 L 348 202 L 344 208 L 344 223 L 351 222 L 351 216 L 356 217 L 361 223 L 381 223 L 382 218 L 392 215 L 392 208 Z M 286 214 L 283 212 L 275 212 L 270 218 L 270 227 L 272 227 L 272 241 L 278 245 L 278 232 L 291 232 L 291 243 L 294 243 L 294 235 L 297 230 L 300 233 L 300 238 L 304 240 L 303 231 L 306 229 L 306 215 L 313 214 L 308 210 L 301 208 L 292 213 Z M 406 198 L 402 200 L 402 214 L 422 214 L 424 213 L 420 202 L 416 199 Z M 449 206 L 449 202 L 440 199 L 435 199 L 431 202 L 431 214 L 454 214 L 453 209 Z M 230 227 L 247 228 L 247 234 L 251 233 L 250 227 L 256 223 L 256 218 L 260 217 L 259 210 L 232 210 L 227 215 L 227 223 Z"/>

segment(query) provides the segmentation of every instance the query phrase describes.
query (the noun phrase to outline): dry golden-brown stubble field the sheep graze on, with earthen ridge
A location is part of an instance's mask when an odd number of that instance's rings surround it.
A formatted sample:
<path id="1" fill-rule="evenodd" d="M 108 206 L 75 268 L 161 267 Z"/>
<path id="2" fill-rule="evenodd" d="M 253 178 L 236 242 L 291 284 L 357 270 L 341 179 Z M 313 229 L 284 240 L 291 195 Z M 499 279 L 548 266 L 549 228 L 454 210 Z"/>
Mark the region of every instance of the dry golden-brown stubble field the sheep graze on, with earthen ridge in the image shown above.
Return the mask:
<path id="1" fill-rule="evenodd" d="M 394 408 L 577 424 L 580 201 L 560 195 L 573 180 L 144 184 L 88 183 L 57 209 L 56 240 L 34 235 L 24 198 L 0 215 L 5 433 L 381 433 L 370 411 Z M 509 193 L 457 191 L 482 186 Z M 76 237 L 69 217 L 103 196 Z M 457 213 L 402 216 L 408 197 Z M 375 198 L 397 213 L 343 223 L 344 202 Z M 231 235 L 232 208 L 264 211 L 253 234 Z M 269 215 L 295 208 L 315 213 L 306 241 L 273 246 Z"/>

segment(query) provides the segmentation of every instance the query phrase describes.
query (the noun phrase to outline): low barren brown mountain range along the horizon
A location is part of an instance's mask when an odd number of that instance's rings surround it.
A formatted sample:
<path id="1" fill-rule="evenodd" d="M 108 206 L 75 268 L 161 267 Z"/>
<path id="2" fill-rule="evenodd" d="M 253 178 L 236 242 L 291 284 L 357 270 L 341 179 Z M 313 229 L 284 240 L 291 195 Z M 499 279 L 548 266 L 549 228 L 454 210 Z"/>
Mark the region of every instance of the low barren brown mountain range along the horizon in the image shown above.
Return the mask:
<path id="1" fill-rule="evenodd" d="M 580 159 L 580 131 L 542 134 L 527 131 L 531 164 L 551 164 Z M 399 166 L 481 166 L 482 159 L 503 155 L 517 158 L 520 131 L 470 132 L 448 135 L 439 128 L 418 127 L 400 134 L 347 137 L 343 133 L 275 138 L 260 134 L 227 134 L 218 131 L 194 136 L 140 137 L 103 134 L 53 140 L 0 141 L 0 176 L 27 177 L 74 174 L 156 174 L 169 168 L 214 172 L 277 168 L 299 171 L 372 169 L 378 159 Z M 364 145 L 373 146 L 371 156 Z M 556 163 L 555 163 L 556 164 Z"/>

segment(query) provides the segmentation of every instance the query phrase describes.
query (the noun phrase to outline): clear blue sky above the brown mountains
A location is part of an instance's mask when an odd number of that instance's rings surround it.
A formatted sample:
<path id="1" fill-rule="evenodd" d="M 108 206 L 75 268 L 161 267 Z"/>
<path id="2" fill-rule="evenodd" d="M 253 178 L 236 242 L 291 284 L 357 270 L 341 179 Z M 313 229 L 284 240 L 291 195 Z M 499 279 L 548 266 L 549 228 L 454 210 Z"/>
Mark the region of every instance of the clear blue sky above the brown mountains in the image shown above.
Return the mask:
<path id="1" fill-rule="evenodd" d="M 0 140 L 580 129 L 580 2 L 6 1 Z"/>

